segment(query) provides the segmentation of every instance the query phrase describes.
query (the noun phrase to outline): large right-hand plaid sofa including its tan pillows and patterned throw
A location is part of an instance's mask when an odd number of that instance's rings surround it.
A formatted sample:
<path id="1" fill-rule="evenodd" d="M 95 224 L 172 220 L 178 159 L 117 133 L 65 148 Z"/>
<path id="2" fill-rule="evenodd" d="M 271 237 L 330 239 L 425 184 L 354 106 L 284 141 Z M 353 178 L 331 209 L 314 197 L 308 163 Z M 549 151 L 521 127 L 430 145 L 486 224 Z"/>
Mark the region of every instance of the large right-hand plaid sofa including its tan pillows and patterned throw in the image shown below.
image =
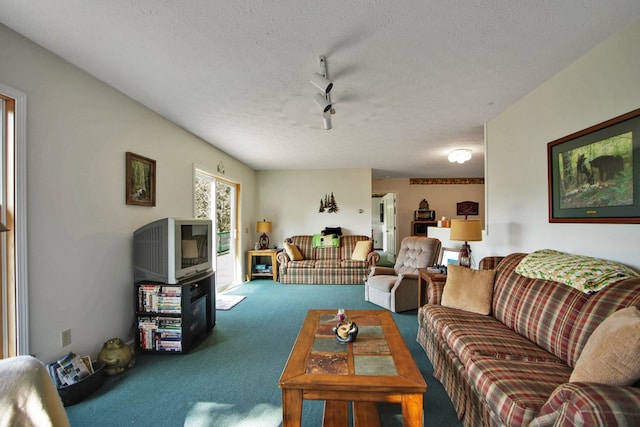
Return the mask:
<path id="1" fill-rule="evenodd" d="M 530 255 L 485 258 L 463 272 L 468 283 L 450 266 L 428 285 L 418 342 L 458 416 L 465 426 L 640 425 L 640 277 L 596 258 Z M 473 275 L 491 271 L 485 314 L 468 311 L 456 298 L 480 293 Z"/>

